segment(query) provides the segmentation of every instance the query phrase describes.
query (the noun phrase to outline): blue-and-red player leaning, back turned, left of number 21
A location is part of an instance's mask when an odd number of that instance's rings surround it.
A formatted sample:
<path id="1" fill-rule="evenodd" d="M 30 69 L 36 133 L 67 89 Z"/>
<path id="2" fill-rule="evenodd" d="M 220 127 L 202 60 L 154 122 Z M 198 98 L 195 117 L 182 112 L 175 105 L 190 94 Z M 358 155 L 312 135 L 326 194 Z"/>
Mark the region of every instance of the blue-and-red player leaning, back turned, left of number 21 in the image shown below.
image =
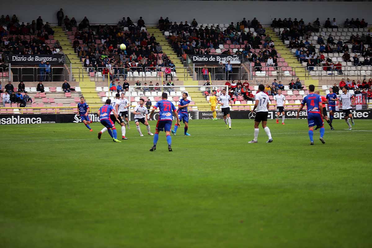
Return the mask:
<path id="1" fill-rule="evenodd" d="M 119 141 L 118 134 L 116 133 L 116 128 L 112 120 L 110 119 L 110 113 L 114 114 L 116 120 L 118 120 L 118 114 L 116 113 L 115 109 L 110 105 L 111 99 L 107 99 L 105 105 L 99 108 L 98 110 L 98 116 L 101 124 L 107 128 L 107 131 L 109 132 L 109 135 L 113 139 L 113 142 L 121 142 Z M 111 131 L 112 130 L 112 131 Z M 102 132 L 98 133 L 98 139 L 101 139 Z"/>

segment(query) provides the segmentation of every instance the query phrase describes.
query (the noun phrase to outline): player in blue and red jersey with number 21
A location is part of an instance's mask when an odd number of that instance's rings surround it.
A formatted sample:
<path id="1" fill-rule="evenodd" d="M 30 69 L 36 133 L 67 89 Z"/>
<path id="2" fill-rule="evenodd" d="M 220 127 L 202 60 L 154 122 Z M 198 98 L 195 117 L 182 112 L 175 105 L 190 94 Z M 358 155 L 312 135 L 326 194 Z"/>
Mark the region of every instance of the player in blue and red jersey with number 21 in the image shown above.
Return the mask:
<path id="1" fill-rule="evenodd" d="M 150 113 L 150 119 L 151 119 L 151 117 L 154 114 L 154 111 L 157 108 L 159 108 L 159 119 L 158 119 L 158 123 L 156 124 L 156 128 L 155 128 L 154 145 L 150 149 L 151 152 L 156 150 L 156 144 L 159 139 L 159 131 L 164 131 L 166 133 L 167 142 L 168 142 L 168 151 L 170 152 L 172 151 L 172 148 L 171 148 L 172 138 L 170 136 L 170 129 L 172 128 L 172 120 L 173 120 L 172 113 L 173 112 L 177 118 L 176 125 L 178 126 L 180 125 L 180 119 L 178 118 L 178 115 L 177 115 L 177 109 L 173 105 L 173 103 L 171 103 L 167 99 L 168 99 L 168 94 L 163 92 L 163 94 L 161 94 L 161 101 L 157 102 L 154 105 L 154 108 L 153 110 L 151 110 L 151 113 Z"/>

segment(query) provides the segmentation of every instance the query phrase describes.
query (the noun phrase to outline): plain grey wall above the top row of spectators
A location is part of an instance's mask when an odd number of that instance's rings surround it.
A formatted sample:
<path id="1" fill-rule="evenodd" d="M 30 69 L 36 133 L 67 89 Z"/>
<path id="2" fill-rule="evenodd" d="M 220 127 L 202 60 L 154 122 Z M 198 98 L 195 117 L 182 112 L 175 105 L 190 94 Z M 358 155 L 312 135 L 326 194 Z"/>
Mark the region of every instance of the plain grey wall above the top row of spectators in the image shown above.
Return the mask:
<path id="1" fill-rule="evenodd" d="M 197 7 L 196 7 L 197 5 Z M 30 9 L 31 8 L 31 9 Z M 90 23 L 118 23 L 122 17 L 131 17 L 137 22 L 140 16 L 146 23 L 157 23 L 160 16 L 169 17 L 171 21 L 191 22 L 196 18 L 203 23 L 230 23 L 243 17 L 256 17 L 261 24 L 271 24 L 275 17 L 304 18 L 313 22 L 317 17 L 321 23 L 327 17 L 336 18 L 343 25 L 346 18 L 364 18 L 372 24 L 372 2 L 314 2 L 314 1 L 167 1 L 167 0 L 91 0 L 58 1 L 18 0 L 14 4 L 2 4 L 1 15 L 16 14 L 21 22 L 31 22 L 41 16 L 44 22 L 57 22 L 57 11 L 63 8 L 68 17 L 75 17 L 80 22 L 87 16 Z M 330 12 L 330 10 L 332 10 Z"/>

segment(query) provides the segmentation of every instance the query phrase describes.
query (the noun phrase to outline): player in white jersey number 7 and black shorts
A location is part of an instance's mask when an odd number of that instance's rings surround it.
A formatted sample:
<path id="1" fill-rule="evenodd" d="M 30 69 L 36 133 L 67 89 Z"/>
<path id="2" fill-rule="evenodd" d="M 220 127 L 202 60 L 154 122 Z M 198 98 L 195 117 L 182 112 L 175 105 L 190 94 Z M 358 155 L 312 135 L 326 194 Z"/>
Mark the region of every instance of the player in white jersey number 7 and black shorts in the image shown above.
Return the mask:
<path id="1" fill-rule="evenodd" d="M 248 143 L 257 143 L 258 133 L 260 131 L 259 124 L 262 122 L 262 127 L 265 130 L 269 140 L 266 143 L 273 142 L 273 138 L 271 137 L 270 129 L 266 126 L 267 123 L 267 115 L 269 114 L 269 107 L 270 107 L 270 100 L 269 96 L 264 93 L 265 86 L 260 84 L 258 86 L 258 93 L 255 96 L 256 102 L 254 104 L 254 108 L 251 110 L 253 113 L 256 110 L 256 117 L 254 118 L 254 139 Z"/>

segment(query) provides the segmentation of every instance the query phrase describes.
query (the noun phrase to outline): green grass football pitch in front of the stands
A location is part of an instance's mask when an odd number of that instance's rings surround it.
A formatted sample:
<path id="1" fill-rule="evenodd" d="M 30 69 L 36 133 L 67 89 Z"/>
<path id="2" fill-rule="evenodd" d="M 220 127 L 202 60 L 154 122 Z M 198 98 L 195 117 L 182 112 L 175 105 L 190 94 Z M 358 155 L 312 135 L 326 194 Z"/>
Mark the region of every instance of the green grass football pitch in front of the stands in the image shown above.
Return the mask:
<path id="1" fill-rule="evenodd" d="M 372 120 L 355 122 L 310 146 L 307 120 L 269 120 L 269 144 L 247 144 L 253 120 L 192 120 L 173 152 L 133 122 L 122 143 L 1 125 L 0 247 L 372 247 Z"/>

